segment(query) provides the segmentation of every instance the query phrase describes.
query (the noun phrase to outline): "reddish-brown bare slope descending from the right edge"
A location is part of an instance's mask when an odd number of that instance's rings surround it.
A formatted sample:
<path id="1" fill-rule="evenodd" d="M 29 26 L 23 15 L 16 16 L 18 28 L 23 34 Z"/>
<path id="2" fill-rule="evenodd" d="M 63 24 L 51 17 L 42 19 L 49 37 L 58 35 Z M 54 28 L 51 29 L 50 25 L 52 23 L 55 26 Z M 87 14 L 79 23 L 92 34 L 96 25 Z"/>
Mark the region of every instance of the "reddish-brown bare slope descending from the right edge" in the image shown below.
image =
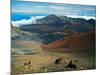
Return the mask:
<path id="1" fill-rule="evenodd" d="M 64 39 L 54 41 L 42 46 L 43 49 L 80 49 L 80 48 L 95 48 L 95 31 L 75 33 Z"/>

